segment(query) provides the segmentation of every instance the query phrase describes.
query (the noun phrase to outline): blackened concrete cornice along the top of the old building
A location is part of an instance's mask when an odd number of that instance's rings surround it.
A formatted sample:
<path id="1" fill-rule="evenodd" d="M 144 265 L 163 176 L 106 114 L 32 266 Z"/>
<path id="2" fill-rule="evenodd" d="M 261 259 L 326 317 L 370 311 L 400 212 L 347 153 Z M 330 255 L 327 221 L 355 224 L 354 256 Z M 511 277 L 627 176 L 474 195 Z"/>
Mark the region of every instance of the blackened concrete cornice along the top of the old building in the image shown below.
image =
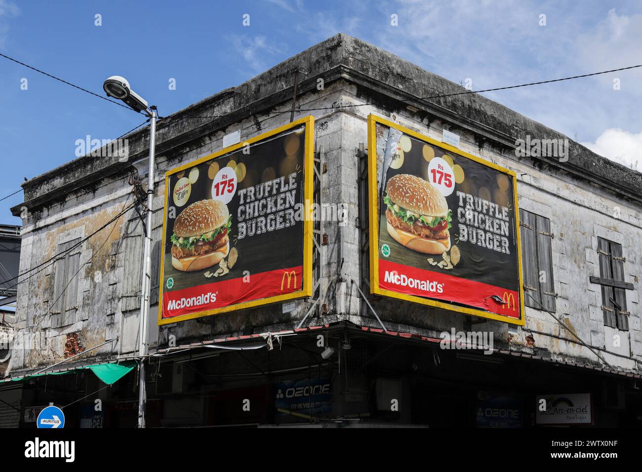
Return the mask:
<path id="1" fill-rule="evenodd" d="M 157 155 L 171 159 L 184 153 L 199 139 L 225 130 L 241 119 L 265 117 L 275 107 L 288 103 L 293 87 L 292 72 L 296 67 L 308 73 L 299 83 L 300 94 L 316 91 L 318 78 L 323 78 L 326 86 L 336 80 L 346 80 L 358 85 L 363 96 L 380 102 L 391 112 L 405 111 L 406 105 L 413 105 L 428 114 L 429 119 L 440 119 L 465 128 L 482 141 L 490 140 L 507 148 L 514 148 L 516 139 L 525 139 L 526 135 L 532 139 L 568 139 L 478 94 L 422 100 L 421 97 L 459 93 L 465 89 L 372 44 L 339 34 L 238 87 L 225 89 L 161 119 L 157 126 Z M 198 116 L 221 118 L 185 118 Z M 101 180 L 123 177 L 132 169 L 132 162 L 146 157 L 148 128 L 141 128 L 126 138 L 130 149 L 128 162 L 119 162 L 117 157 L 74 159 L 24 182 L 25 202 L 13 207 L 12 213 L 19 216 L 22 206 L 34 211 L 55 202 L 64 202 L 69 193 L 81 189 L 83 192 L 91 191 L 98 188 Z M 568 141 L 568 162 L 559 162 L 551 157 L 528 159 L 537 166 L 549 166 L 557 173 L 571 174 L 642 204 L 642 173 L 609 161 L 571 139 Z M 515 159 L 518 160 L 517 157 Z"/>

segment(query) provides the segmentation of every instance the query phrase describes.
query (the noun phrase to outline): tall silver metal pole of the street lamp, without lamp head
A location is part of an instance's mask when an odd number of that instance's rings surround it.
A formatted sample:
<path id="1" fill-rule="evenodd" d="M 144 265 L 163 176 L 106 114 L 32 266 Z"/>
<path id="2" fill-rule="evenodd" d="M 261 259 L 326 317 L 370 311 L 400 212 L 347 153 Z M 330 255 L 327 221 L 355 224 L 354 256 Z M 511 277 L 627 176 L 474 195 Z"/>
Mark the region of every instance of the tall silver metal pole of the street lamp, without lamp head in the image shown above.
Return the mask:
<path id="1" fill-rule="evenodd" d="M 147 392 L 145 388 L 145 358 L 147 355 L 147 320 L 150 312 L 150 287 L 152 284 L 152 200 L 154 194 L 154 164 L 156 145 L 156 110 L 152 107 L 150 116 L 150 167 L 147 174 L 147 218 L 146 232 L 143 245 L 143 278 L 141 281 L 141 316 L 138 329 L 138 351 L 141 358 L 138 381 L 138 427 L 145 427 L 145 403 Z"/>

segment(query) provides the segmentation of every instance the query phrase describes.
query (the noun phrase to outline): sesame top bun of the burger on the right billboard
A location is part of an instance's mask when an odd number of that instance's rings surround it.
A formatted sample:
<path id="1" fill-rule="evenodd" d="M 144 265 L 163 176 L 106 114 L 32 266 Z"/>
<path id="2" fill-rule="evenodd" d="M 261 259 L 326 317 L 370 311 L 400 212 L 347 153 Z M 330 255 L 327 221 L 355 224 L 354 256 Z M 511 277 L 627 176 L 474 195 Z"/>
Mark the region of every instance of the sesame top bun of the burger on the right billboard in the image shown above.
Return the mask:
<path id="1" fill-rule="evenodd" d="M 448 213 L 446 198 L 439 189 L 415 175 L 391 177 L 386 184 L 386 193 L 393 203 L 413 213 L 433 217 L 446 216 Z"/>

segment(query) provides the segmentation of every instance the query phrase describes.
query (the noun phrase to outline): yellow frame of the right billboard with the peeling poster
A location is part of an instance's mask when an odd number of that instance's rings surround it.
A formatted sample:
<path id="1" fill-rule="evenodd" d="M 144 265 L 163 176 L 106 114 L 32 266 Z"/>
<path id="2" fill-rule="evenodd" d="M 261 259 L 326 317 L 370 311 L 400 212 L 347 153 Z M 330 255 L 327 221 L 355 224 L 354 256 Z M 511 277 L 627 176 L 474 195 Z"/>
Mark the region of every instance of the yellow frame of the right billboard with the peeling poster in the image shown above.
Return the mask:
<path id="1" fill-rule="evenodd" d="M 376 126 L 377 123 L 385 125 L 390 128 L 395 128 L 404 134 L 424 141 L 424 143 L 431 144 L 432 146 L 437 146 L 438 148 L 444 149 L 448 152 L 455 153 L 467 159 L 471 159 L 474 162 L 478 162 L 483 166 L 490 167 L 494 170 L 500 171 L 507 175 L 510 175 L 513 180 L 513 201 L 515 205 L 515 224 L 516 224 L 516 234 L 517 234 L 517 272 L 519 277 L 519 319 L 507 317 L 505 315 L 498 315 L 497 313 L 490 313 L 489 311 L 478 310 L 476 308 L 467 308 L 465 306 L 453 305 L 445 302 L 440 302 L 437 300 L 426 299 L 422 297 L 417 297 L 416 295 L 406 295 L 405 293 L 397 293 L 392 290 L 386 290 L 384 288 L 379 288 L 379 227 L 377 222 L 379 220 L 379 199 L 377 196 L 377 135 L 376 135 Z M 370 293 L 376 295 L 384 295 L 385 297 L 391 297 L 395 299 L 405 300 L 408 302 L 420 303 L 428 306 L 433 306 L 435 308 L 442 308 L 443 310 L 456 311 L 457 313 L 464 313 L 465 315 L 473 315 L 474 317 L 480 317 L 485 319 L 503 321 L 510 324 L 517 324 L 519 326 L 524 326 L 525 324 L 525 312 L 524 312 L 524 285 L 523 285 L 523 275 L 521 267 L 521 239 L 519 235 L 519 207 L 517 205 L 517 174 L 507 168 L 503 168 L 494 164 L 493 162 L 484 161 L 480 157 L 477 157 L 471 153 L 462 151 L 455 146 L 450 144 L 441 143 L 436 139 L 432 139 L 423 134 L 419 134 L 409 128 L 388 121 L 385 118 L 369 114 L 368 115 L 368 198 L 369 198 L 369 219 L 370 219 Z"/>

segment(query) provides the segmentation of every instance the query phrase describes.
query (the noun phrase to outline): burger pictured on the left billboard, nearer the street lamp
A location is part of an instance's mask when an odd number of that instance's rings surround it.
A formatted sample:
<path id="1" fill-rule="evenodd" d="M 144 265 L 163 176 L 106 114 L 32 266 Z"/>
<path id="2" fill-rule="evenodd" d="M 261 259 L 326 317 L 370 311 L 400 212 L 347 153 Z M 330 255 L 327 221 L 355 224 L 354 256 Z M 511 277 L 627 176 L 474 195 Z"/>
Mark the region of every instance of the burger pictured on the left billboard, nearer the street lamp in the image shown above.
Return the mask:
<path id="1" fill-rule="evenodd" d="M 200 200 L 184 209 L 174 222 L 171 265 L 191 272 L 220 263 L 230 250 L 232 216 L 219 200 Z"/>

